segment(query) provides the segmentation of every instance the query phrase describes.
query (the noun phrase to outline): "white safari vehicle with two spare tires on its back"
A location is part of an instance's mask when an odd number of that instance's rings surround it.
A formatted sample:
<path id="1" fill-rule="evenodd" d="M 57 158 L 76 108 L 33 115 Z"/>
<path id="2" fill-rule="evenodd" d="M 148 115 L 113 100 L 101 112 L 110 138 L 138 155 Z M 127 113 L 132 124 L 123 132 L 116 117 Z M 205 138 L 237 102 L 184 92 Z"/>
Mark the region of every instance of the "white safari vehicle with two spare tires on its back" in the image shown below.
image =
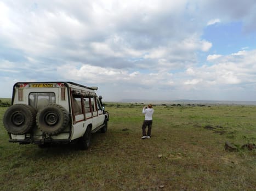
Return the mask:
<path id="1" fill-rule="evenodd" d="M 109 121 L 97 89 L 73 82 L 15 83 L 3 118 L 9 142 L 45 147 L 78 140 L 86 150 L 91 133 L 106 133 Z"/>

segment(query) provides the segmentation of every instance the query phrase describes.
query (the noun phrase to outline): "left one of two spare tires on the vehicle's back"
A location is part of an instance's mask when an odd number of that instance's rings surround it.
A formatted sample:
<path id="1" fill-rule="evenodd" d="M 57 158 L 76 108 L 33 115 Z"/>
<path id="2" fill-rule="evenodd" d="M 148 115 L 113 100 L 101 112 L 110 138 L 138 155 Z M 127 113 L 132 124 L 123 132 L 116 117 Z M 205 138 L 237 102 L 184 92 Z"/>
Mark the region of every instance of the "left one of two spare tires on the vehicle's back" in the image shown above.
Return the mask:
<path id="1" fill-rule="evenodd" d="M 36 110 L 30 105 L 15 104 L 5 111 L 3 117 L 4 128 L 14 135 L 30 132 L 35 125 Z"/>

